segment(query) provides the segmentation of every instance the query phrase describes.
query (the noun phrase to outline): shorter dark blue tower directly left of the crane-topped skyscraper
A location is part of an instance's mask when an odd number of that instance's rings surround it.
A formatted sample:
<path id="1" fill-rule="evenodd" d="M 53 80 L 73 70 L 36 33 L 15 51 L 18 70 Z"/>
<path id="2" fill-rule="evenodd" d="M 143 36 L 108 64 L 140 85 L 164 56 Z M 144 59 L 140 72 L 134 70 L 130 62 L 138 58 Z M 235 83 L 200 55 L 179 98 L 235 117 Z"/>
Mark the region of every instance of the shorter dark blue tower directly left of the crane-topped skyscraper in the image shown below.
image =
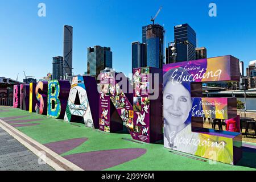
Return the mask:
<path id="1" fill-rule="evenodd" d="M 131 43 L 132 71 L 134 68 L 141 68 L 147 66 L 146 56 L 146 44 L 140 43 L 139 41 Z"/>

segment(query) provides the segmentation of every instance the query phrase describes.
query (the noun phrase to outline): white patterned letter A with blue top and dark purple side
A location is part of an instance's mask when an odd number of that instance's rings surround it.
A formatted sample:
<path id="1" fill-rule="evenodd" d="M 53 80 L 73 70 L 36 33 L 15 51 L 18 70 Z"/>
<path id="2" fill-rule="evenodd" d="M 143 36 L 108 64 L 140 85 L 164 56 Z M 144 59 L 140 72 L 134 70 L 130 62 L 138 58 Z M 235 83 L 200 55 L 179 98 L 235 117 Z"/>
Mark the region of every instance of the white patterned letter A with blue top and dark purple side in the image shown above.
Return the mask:
<path id="1" fill-rule="evenodd" d="M 82 122 L 86 127 L 98 129 L 98 99 L 94 77 L 73 77 L 64 120 Z"/>

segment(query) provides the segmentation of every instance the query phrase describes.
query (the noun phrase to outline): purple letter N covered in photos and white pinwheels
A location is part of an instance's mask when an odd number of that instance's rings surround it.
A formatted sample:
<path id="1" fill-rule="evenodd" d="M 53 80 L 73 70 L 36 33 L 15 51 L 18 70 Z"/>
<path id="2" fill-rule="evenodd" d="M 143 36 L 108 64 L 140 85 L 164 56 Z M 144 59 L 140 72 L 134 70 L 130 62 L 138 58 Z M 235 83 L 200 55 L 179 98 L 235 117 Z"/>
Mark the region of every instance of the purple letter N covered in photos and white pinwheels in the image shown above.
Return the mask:
<path id="1" fill-rule="evenodd" d="M 150 100 L 151 85 L 154 83 L 152 73 L 161 76 L 160 83 L 155 86 L 156 90 L 160 90 L 160 97 L 154 100 Z M 130 84 L 126 82 L 125 76 L 122 73 L 118 74 L 121 74 L 123 78 L 122 84 L 121 81 L 115 80 L 117 73 L 102 73 L 101 75 L 100 130 L 106 132 L 122 130 L 120 122 L 113 117 L 114 109 L 133 139 L 147 143 L 162 139 L 162 71 L 150 67 L 134 69 L 134 90 L 129 88 Z M 133 90 L 133 94 L 125 93 L 123 85 L 127 86 L 126 91 Z M 113 105 L 114 108 L 112 108 Z"/>

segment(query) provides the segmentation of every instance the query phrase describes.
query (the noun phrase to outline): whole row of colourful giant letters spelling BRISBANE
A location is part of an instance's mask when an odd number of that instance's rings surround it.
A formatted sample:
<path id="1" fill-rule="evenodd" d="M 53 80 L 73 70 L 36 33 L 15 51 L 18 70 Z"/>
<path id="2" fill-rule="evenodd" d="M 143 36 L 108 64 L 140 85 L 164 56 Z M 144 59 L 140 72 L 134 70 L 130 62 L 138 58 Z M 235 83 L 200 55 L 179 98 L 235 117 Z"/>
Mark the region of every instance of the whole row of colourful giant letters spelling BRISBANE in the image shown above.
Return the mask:
<path id="1" fill-rule="evenodd" d="M 184 61 L 163 69 L 133 69 L 133 84 L 123 73 L 39 81 L 14 86 L 13 107 L 102 132 L 127 131 L 134 140 L 235 165 L 242 158 L 242 135 L 203 126 L 204 118 L 237 118 L 236 98 L 203 97 L 203 83 L 238 81 L 233 56 Z M 239 120 L 239 119 L 238 119 Z M 240 127 L 240 122 L 237 121 Z M 238 130 L 237 130 L 238 131 Z"/>

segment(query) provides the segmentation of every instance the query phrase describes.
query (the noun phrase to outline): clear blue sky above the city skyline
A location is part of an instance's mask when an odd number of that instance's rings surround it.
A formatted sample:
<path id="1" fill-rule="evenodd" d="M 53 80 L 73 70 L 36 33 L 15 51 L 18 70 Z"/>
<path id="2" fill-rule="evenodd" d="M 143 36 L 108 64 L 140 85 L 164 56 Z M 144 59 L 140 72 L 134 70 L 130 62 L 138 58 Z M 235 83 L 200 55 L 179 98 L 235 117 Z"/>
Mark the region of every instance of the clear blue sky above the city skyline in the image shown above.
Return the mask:
<path id="1" fill-rule="evenodd" d="M 46 17 L 38 4 L 46 4 Z M 208 5 L 217 5 L 217 17 Z M 73 26 L 73 72 L 86 71 L 86 48 L 111 47 L 113 68 L 126 75 L 131 70 L 131 42 L 142 41 L 142 26 L 155 20 L 166 30 L 165 44 L 174 39 L 174 26 L 189 23 L 198 47 L 208 57 L 233 55 L 245 62 L 256 60 L 256 2 L 244 1 L 135 1 L 135 0 L 0 0 L 0 76 L 18 80 L 42 78 L 52 72 L 52 57 L 63 55 L 63 26 Z"/>

